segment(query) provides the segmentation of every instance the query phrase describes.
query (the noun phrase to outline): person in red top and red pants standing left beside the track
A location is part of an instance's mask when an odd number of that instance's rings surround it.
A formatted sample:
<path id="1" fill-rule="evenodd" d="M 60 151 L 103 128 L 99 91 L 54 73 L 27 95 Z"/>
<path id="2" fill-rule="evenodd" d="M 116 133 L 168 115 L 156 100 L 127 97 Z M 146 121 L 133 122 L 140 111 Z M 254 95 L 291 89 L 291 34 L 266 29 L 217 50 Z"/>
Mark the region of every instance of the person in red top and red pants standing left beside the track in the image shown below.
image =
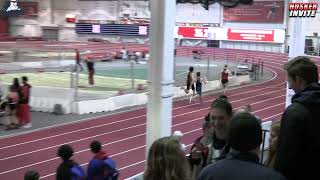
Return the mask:
<path id="1" fill-rule="evenodd" d="M 19 114 L 18 120 L 20 124 L 25 124 L 24 128 L 30 128 L 30 107 L 29 107 L 29 98 L 30 98 L 30 89 L 31 86 L 28 84 L 28 77 L 22 77 L 22 87 L 21 87 L 21 97 L 19 99 Z"/>

